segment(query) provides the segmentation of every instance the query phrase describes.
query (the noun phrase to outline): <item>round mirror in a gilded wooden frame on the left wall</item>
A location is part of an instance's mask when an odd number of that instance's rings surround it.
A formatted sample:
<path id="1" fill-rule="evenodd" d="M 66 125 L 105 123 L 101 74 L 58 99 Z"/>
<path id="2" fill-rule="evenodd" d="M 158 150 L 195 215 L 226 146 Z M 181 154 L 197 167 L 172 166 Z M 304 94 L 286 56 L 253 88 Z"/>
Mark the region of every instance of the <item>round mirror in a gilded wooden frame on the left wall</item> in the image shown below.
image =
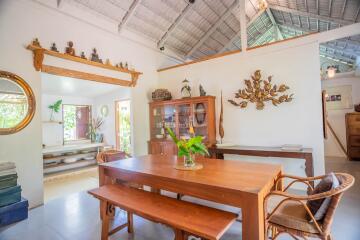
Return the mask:
<path id="1" fill-rule="evenodd" d="M 26 127 L 35 113 L 35 97 L 21 77 L 0 71 L 0 135 Z"/>

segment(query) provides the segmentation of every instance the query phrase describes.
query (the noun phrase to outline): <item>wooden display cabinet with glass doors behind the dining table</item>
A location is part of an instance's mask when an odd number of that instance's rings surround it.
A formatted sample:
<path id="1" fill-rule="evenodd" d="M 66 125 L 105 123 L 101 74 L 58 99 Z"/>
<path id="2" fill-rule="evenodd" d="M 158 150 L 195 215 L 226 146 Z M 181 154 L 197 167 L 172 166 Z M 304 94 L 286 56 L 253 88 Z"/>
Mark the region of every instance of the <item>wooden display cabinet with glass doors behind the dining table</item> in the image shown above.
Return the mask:
<path id="1" fill-rule="evenodd" d="M 203 136 L 207 146 L 216 143 L 214 96 L 151 102 L 149 106 L 150 154 L 177 154 L 177 147 L 165 127 L 171 128 L 178 138 L 189 138 L 192 124 L 195 135 Z"/>

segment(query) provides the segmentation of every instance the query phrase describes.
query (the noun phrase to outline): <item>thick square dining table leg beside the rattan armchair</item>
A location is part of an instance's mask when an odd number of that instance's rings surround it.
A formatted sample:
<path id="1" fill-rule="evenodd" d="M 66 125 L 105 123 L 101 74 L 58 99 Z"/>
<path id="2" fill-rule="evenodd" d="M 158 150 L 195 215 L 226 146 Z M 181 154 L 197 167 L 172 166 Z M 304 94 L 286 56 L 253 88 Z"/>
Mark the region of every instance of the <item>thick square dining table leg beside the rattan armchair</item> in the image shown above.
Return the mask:
<path id="1" fill-rule="evenodd" d="M 242 240 L 264 240 L 264 206 L 263 200 L 254 195 L 244 201 L 242 211 Z"/>

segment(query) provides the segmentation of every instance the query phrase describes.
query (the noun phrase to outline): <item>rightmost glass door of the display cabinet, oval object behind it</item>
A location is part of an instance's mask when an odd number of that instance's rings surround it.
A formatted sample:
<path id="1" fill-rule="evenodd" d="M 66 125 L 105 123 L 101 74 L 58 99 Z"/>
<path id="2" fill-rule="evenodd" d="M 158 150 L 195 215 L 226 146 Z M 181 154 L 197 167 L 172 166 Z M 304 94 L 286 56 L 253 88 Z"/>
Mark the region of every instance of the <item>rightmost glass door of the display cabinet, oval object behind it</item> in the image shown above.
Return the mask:
<path id="1" fill-rule="evenodd" d="M 207 102 L 193 103 L 192 123 L 196 136 L 203 136 L 208 140 L 208 104 Z"/>

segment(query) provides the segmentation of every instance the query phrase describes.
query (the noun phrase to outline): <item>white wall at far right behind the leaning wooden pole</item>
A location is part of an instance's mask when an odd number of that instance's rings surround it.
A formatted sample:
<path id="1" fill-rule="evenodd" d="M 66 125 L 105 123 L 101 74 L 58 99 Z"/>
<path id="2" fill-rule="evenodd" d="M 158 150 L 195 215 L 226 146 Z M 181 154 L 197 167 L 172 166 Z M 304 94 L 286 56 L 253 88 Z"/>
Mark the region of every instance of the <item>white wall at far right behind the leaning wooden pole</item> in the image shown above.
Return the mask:
<path id="1" fill-rule="evenodd" d="M 322 81 L 322 87 L 334 87 L 341 85 L 352 86 L 352 101 L 353 104 L 360 103 L 360 77 L 344 77 L 333 80 Z M 340 141 L 346 148 L 346 127 L 345 127 L 345 114 L 354 112 L 352 109 L 342 110 L 328 110 L 328 121 L 333 127 L 335 133 L 340 138 Z M 334 136 L 328 131 L 328 139 L 325 140 L 325 156 L 345 157 L 341 151 L 339 144 L 335 141 Z"/>

